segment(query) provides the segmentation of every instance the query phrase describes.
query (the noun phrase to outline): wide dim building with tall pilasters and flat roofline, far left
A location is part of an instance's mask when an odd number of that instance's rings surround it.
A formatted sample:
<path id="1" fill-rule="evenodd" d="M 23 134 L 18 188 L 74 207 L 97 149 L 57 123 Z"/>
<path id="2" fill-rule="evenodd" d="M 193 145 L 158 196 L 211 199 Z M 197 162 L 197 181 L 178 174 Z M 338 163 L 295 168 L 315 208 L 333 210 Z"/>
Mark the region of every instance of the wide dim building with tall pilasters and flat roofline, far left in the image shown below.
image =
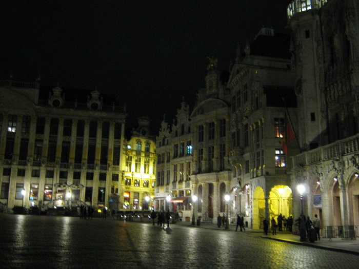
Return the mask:
<path id="1" fill-rule="evenodd" d="M 125 118 L 97 90 L 1 81 L 0 201 L 8 210 L 117 208 Z"/>

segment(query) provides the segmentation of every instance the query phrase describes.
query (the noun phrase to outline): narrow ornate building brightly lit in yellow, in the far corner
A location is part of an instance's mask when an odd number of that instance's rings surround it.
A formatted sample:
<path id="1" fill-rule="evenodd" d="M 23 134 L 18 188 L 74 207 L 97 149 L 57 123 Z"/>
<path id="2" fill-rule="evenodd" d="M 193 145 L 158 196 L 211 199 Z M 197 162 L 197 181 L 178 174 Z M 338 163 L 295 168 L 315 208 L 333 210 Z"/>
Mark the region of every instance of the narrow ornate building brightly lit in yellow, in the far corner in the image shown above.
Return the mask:
<path id="1" fill-rule="evenodd" d="M 119 207 L 123 210 L 153 209 L 156 144 L 149 123 L 148 118 L 139 118 L 137 128 L 124 142 L 119 195 Z"/>

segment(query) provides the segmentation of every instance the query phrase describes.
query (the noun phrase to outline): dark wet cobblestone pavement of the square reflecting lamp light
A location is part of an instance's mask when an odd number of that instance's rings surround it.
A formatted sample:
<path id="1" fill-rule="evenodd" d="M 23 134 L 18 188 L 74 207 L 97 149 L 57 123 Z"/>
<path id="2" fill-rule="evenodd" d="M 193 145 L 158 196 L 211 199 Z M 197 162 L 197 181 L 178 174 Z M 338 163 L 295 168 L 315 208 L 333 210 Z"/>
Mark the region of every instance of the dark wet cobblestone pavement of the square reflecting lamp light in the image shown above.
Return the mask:
<path id="1" fill-rule="evenodd" d="M 1 268 L 356 268 L 359 256 L 260 233 L 0 214 Z"/>

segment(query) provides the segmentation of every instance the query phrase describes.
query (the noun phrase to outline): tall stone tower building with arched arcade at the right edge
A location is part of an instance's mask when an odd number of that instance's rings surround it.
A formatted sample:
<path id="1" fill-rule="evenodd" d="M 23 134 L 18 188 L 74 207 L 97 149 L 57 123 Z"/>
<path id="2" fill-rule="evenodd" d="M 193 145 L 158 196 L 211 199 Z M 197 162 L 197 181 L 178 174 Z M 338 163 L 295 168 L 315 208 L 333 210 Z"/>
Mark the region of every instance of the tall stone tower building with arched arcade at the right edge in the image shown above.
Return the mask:
<path id="1" fill-rule="evenodd" d="M 292 30 L 298 138 L 292 189 L 303 184 L 304 214 L 323 226 L 359 225 L 357 0 L 293 1 Z M 300 212 L 300 195 L 293 196 Z"/>

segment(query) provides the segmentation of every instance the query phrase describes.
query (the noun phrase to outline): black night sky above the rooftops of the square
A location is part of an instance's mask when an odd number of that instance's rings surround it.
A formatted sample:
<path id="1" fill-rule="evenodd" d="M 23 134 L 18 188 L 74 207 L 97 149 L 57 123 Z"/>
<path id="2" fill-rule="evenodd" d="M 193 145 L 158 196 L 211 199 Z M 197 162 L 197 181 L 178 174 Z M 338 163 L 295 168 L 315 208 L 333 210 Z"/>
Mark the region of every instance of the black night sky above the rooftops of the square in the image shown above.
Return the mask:
<path id="1" fill-rule="evenodd" d="M 203 88 L 207 57 L 228 70 L 262 26 L 283 31 L 288 0 L 4 1 L 0 79 L 120 96 L 133 118 L 171 121 Z"/>

